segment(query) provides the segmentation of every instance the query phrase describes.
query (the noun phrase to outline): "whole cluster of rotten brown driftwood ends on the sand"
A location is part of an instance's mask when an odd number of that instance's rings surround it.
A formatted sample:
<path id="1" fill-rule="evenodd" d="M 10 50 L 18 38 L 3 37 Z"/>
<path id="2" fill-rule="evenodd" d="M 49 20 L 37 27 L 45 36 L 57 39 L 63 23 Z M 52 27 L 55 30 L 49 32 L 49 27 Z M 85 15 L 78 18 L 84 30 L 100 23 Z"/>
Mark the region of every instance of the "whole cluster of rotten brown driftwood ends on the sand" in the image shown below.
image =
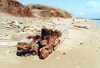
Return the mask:
<path id="1" fill-rule="evenodd" d="M 41 35 L 28 36 L 28 39 L 32 39 L 31 42 L 19 42 L 17 44 L 17 56 L 30 56 L 38 55 L 40 59 L 47 58 L 53 51 L 55 51 L 57 45 L 60 43 L 59 37 L 62 33 L 57 30 L 43 28 Z"/>

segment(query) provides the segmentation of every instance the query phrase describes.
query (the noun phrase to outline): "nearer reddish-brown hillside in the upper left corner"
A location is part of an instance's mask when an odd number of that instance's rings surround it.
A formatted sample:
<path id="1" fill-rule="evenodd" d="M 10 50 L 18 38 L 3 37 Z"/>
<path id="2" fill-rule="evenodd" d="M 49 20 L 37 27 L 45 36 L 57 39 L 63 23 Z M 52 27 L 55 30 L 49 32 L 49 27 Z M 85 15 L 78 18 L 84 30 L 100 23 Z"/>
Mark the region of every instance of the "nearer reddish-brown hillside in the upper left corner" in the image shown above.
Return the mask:
<path id="1" fill-rule="evenodd" d="M 0 0 L 0 11 L 19 17 L 33 17 L 31 9 L 16 0 Z"/>

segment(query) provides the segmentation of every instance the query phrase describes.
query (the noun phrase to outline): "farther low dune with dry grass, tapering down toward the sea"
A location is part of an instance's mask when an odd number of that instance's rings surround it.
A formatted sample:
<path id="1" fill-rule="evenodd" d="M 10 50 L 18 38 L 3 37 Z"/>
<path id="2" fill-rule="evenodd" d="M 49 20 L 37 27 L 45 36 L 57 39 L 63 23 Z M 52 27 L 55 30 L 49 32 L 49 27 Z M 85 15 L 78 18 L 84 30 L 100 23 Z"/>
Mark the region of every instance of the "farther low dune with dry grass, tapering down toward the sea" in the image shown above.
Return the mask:
<path id="1" fill-rule="evenodd" d="M 72 16 L 62 9 L 53 8 L 50 6 L 40 5 L 40 4 L 33 4 L 28 5 L 30 8 L 34 10 L 38 10 L 40 16 L 42 17 L 62 17 L 62 18 L 71 18 Z"/>

